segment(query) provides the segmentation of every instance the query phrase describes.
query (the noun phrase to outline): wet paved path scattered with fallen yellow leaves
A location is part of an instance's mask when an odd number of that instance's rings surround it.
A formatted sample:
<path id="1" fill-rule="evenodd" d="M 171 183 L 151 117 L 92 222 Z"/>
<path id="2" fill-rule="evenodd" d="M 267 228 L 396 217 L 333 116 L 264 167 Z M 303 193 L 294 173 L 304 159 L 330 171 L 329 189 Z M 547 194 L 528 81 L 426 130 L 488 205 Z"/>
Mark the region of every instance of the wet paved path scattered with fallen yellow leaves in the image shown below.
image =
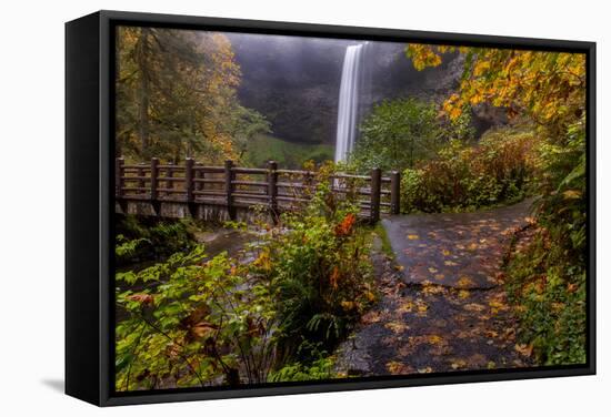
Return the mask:
<path id="1" fill-rule="evenodd" d="M 338 349 L 337 370 L 368 376 L 528 366 L 501 264 L 530 203 L 384 220 L 395 261 L 385 261 L 380 303 Z"/>

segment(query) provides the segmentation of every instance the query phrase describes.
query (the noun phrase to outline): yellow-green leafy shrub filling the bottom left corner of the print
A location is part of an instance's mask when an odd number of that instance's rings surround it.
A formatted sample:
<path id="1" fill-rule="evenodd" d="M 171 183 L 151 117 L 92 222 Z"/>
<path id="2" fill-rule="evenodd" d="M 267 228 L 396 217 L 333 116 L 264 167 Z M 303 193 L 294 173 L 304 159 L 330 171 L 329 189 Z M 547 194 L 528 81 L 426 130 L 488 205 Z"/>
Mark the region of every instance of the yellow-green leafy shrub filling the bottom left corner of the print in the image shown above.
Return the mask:
<path id="1" fill-rule="evenodd" d="M 117 274 L 127 318 L 116 327 L 116 388 L 261 383 L 276 353 L 269 283 L 227 254 L 201 246 L 139 273 Z"/>

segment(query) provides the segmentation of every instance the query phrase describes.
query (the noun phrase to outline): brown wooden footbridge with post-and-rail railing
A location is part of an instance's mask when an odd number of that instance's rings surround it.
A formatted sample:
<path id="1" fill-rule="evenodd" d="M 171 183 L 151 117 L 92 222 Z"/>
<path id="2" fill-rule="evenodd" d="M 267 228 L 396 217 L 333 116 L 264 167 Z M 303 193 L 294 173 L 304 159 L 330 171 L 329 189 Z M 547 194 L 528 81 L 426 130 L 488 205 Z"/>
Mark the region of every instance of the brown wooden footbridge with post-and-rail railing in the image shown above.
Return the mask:
<path id="1" fill-rule="evenodd" d="M 163 204 L 182 205 L 188 211 L 174 210 L 178 214 L 171 215 L 179 217 L 211 217 L 201 214 L 206 208 L 207 213 L 221 210 L 220 217 L 230 220 L 236 220 L 240 210 L 256 208 L 276 217 L 310 201 L 319 181 L 313 171 L 282 170 L 273 161 L 260 169 L 236 166 L 233 161 L 204 166 L 193 159 L 180 165 L 161 164 L 156 157 L 150 163 L 126 164 L 119 157 L 114 166 L 118 211 L 137 212 L 133 205 L 147 204 L 152 207 L 151 214 L 168 215 L 163 214 Z M 399 214 L 399 172 L 388 176 L 380 169 L 371 170 L 369 175 L 334 173 L 329 181 L 339 199 L 351 196 L 359 204 L 360 215 L 371 222 L 384 214 Z"/>

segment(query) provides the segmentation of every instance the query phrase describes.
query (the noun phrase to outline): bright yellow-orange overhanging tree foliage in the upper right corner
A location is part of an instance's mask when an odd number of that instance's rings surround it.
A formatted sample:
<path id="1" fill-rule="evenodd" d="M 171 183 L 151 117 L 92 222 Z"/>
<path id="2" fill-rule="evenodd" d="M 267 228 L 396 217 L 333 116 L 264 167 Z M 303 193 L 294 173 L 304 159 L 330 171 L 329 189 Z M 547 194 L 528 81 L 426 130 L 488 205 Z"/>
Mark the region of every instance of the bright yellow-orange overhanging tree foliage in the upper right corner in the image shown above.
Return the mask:
<path id="1" fill-rule="evenodd" d="M 450 119 L 480 103 L 503 108 L 510 118 L 528 116 L 554 140 L 585 111 L 585 55 L 494 48 L 410 44 L 417 70 L 441 64 L 443 53 L 464 54 L 457 93 L 443 103 Z"/>

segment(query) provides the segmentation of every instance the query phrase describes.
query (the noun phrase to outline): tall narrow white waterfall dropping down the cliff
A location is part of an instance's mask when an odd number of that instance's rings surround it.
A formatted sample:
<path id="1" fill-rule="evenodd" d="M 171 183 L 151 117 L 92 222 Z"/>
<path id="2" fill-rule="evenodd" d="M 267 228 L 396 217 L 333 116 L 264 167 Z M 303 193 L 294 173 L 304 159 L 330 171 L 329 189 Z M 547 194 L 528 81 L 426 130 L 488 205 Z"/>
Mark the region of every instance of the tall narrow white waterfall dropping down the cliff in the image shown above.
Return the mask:
<path id="1" fill-rule="evenodd" d="M 347 160 L 354 148 L 354 141 L 357 139 L 362 50 L 362 44 L 348 47 L 343 58 L 338 109 L 335 162 Z"/>

